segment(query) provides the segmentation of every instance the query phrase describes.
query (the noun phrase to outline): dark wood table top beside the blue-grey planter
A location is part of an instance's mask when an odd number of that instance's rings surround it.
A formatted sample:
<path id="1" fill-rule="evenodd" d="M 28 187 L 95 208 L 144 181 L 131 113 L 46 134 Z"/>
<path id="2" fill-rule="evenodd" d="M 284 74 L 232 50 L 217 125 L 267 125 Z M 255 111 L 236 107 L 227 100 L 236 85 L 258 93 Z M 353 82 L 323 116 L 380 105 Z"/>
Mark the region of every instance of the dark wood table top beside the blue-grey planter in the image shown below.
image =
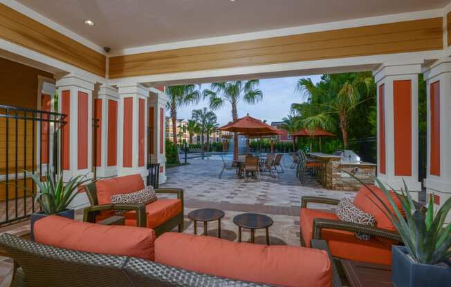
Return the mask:
<path id="1" fill-rule="evenodd" d="M 392 266 L 342 259 L 351 287 L 393 287 Z"/>

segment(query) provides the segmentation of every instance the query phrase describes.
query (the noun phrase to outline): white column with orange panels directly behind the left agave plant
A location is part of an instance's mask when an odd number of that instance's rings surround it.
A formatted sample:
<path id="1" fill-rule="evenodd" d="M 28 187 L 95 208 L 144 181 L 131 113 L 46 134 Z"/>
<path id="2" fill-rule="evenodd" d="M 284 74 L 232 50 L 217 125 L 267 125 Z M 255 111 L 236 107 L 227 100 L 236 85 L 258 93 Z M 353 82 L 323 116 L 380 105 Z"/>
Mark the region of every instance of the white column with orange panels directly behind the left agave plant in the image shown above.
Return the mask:
<path id="1" fill-rule="evenodd" d="M 59 112 L 66 115 L 62 127 L 62 171 L 64 182 L 77 175 L 93 177 L 93 90 L 95 83 L 77 74 L 59 77 L 56 82 Z M 72 201 L 70 208 L 88 204 L 84 192 Z"/>

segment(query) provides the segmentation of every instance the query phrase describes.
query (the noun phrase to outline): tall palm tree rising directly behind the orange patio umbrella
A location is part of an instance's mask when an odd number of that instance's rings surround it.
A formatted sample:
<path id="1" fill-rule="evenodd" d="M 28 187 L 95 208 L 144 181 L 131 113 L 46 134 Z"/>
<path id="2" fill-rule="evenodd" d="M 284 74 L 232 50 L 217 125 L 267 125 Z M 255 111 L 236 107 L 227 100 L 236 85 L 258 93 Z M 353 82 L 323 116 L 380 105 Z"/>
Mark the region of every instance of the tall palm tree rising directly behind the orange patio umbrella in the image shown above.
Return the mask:
<path id="1" fill-rule="evenodd" d="M 259 80 L 250 81 L 228 81 L 212 83 L 210 89 L 203 90 L 203 98 L 210 100 L 210 108 L 217 110 L 226 103 L 232 107 L 232 120 L 238 119 L 237 105 L 243 100 L 246 103 L 255 104 L 263 99 L 263 93 L 257 87 Z M 238 135 L 233 135 L 233 158 L 238 157 Z"/>

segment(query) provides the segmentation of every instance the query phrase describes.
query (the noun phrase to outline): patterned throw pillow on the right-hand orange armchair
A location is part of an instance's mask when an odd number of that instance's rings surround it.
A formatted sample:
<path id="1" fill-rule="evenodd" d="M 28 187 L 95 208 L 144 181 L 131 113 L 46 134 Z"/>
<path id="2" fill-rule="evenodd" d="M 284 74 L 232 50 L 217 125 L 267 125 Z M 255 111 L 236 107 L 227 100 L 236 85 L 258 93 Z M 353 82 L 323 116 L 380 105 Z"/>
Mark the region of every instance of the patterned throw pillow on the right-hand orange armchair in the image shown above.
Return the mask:
<path id="1" fill-rule="evenodd" d="M 352 222 L 354 224 L 365 224 L 369 226 L 376 226 L 376 218 L 360 208 L 353 205 L 350 199 L 342 199 L 335 210 L 337 216 L 342 221 Z M 368 241 L 371 235 L 365 233 L 354 232 L 356 237 L 360 240 Z"/>

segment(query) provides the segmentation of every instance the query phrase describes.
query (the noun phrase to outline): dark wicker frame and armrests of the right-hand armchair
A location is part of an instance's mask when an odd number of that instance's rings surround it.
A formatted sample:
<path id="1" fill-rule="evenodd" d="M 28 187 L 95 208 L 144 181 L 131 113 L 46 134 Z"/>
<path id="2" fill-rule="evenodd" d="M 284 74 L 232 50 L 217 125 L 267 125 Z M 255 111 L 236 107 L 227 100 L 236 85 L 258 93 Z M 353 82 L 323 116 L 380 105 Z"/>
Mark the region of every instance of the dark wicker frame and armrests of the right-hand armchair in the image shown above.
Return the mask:
<path id="1" fill-rule="evenodd" d="M 309 203 L 315 204 L 329 204 L 329 205 L 338 205 L 340 200 L 338 199 L 330 199 L 324 197 L 302 197 L 301 199 L 301 207 L 307 208 Z M 302 219 L 301 219 L 302 220 Z M 326 229 L 335 229 L 335 230 L 345 230 L 349 232 L 361 232 L 367 235 L 381 237 L 385 239 L 390 239 L 398 242 L 402 242 L 401 236 L 399 236 L 398 232 L 394 232 L 392 230 L 387 230 L 383 228 L 378 228 L 374 226 L 367 226 L 364 224 L 354 224 L 347 221 L 341 220 L 333 220 L 333 219 L 322 219 L 315 218 L 313 219 L 313 239 L 321 239 L 321 230 L 323 228 Z M 304 237 L 302 237 L 302 228 L 300 228 L 300 237 L 301 237 L 301 246 L 306 246 L 304 242 Z"/>

